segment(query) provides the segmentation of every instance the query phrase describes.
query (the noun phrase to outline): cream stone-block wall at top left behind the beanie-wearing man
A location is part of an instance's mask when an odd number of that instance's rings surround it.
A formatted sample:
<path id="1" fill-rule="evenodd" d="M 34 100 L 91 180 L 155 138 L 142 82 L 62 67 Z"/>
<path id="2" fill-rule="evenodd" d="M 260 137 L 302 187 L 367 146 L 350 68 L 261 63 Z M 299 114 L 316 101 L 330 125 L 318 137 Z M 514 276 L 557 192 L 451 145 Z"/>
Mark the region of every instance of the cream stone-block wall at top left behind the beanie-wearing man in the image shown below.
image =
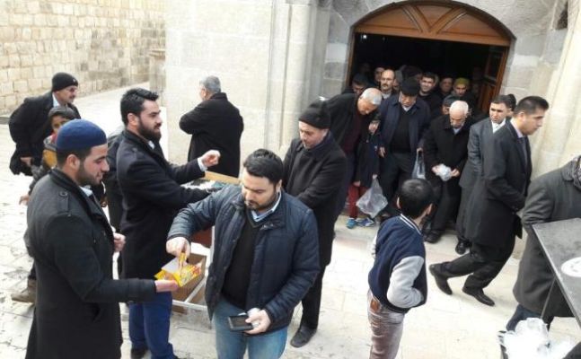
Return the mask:
<path id="1" fill-rule="evenodd" d="M 75 74 L 80 95 L 147 81 L 165 46 L 158 0 L 0 0 L 0 113 Z"/>

